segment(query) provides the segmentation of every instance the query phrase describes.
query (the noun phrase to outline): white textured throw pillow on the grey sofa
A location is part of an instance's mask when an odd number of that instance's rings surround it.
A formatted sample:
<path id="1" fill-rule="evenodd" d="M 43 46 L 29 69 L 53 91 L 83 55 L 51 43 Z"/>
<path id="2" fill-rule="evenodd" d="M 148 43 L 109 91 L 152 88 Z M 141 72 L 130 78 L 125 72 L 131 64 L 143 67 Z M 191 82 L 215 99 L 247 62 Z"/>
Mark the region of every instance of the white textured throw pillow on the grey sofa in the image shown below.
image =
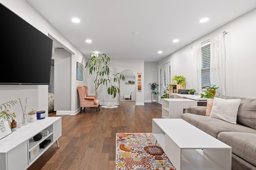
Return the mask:
<path id="1" fill-rule="evenodd" d="M 238 107 L 241 99 L 214 98 L 210 117 L 236 124 Z"/>

